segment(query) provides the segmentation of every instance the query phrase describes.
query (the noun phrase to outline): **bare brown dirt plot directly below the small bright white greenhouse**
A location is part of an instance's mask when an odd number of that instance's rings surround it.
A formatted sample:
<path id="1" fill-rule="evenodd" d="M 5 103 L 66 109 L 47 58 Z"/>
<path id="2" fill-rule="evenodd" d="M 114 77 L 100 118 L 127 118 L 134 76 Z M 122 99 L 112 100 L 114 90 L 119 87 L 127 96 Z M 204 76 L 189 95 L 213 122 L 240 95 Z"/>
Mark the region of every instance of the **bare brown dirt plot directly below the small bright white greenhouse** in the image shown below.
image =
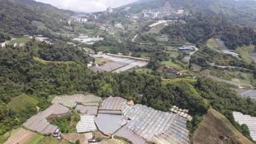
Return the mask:
<path id="1" fill-rule="evenodd" d="M 86 133 L 86 134 L 61 134 L 63 139 L 67 141 L 75 142 L 77 140 L 80 140 L 80 143 L 88 143 L 88 139 L 92 138 L 92 133 Z"/>

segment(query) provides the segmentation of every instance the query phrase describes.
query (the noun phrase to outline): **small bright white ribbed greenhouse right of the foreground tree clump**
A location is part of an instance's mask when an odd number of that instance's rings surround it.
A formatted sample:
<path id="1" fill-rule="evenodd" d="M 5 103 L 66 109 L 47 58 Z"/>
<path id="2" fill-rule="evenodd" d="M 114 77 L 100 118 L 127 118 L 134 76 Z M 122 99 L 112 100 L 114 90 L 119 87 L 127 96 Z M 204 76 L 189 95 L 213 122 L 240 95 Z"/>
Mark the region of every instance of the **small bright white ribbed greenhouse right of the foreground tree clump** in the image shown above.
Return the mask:
<path id="1" fill-rule="evenodd" d="M 80 121 L 77 123 L 77 133 L 84 133 L 88 131 L 96 131 L 96 125 L 94 122 L 95 116 L 92 115 L 81 115 Z"/>

